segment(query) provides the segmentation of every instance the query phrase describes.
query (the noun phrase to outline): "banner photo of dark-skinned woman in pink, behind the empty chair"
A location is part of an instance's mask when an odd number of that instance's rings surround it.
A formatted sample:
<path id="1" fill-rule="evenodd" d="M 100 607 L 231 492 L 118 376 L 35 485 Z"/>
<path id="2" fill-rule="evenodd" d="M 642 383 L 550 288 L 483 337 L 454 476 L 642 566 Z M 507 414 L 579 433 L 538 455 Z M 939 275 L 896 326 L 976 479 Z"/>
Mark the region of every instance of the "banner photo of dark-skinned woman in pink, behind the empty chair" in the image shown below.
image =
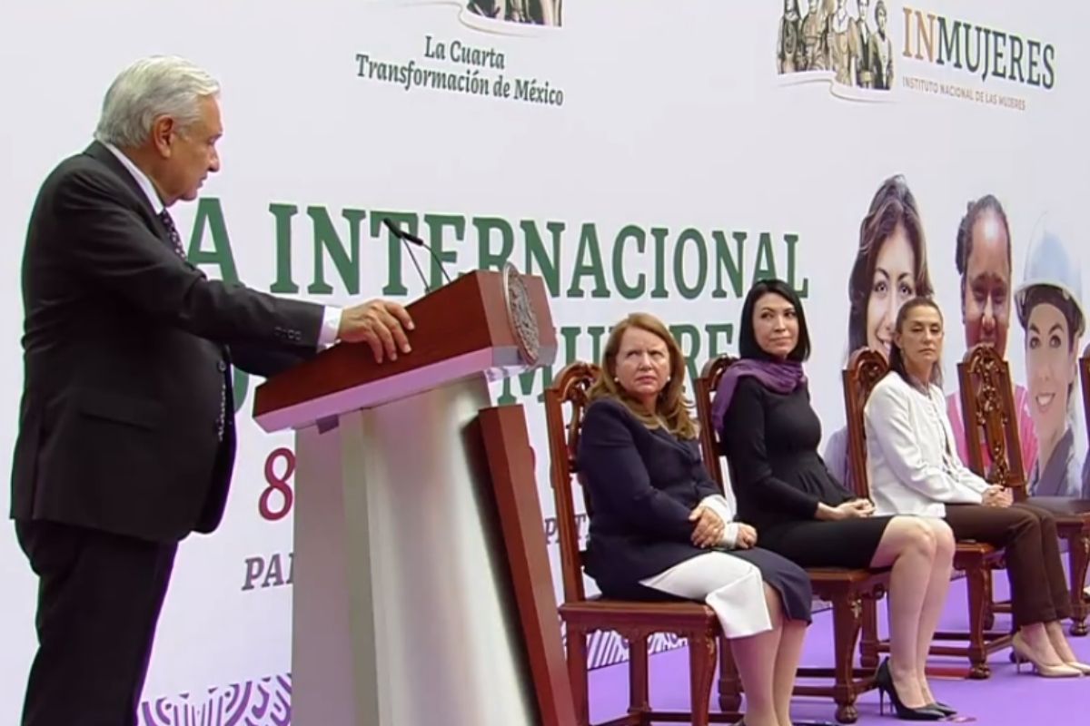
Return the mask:
<path id="1" fill-rule="evenodd" d="M 1012 255 L 1010 225 L 1003 205 L 991 194 L 970 201 L 957 230 L 954 261 L 961 279 L 961 323 L 965 327 L 965 349 L 984 343 L 1006 357 L 1007 331 L 1010 329 Z M 1021 442 L 1022 465 L 1027 471 L 1037 462 L 1037 434 L 1029 413 L 1026 386 L 1014 390 Z M 968 465 L 969 451 L 965 441 L 965 417 L 961 394 L 954 390 L 946 396 L 954 441 L 961 462 Z M 981 445 L 985 466 L 991 463 L 988 447 Z"/>

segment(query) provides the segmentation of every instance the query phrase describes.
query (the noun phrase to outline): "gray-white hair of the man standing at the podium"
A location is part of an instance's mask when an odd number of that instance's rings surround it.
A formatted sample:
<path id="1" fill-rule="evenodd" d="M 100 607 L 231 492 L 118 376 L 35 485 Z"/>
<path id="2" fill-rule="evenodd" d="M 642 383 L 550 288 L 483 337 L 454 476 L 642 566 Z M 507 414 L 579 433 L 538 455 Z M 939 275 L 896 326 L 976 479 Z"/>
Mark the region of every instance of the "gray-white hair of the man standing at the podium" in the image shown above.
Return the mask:
<path id="1" fill-rule="evenodd" d="M 157 116 L 168 115 L 185 128 L 201 118 L 201 99 L 218 95 L 219 83 L 184 58 L 143 58 L 110 84 L 95 138 L 121 148 L 140 146 Z"/>

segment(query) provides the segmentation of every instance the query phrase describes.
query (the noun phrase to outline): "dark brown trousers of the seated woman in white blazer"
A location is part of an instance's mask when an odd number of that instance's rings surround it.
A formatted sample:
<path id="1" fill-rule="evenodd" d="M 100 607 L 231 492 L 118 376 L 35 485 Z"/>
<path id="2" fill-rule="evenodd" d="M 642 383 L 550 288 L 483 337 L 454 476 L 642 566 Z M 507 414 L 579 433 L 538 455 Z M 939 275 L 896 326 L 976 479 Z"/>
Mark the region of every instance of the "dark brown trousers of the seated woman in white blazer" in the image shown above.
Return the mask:
<path id="1" fill-rule="evenodd" d="M 1051 514 L 1022 503 L 1009 507 L 947 504 L 946 524 L 956 539 L 1006 550 L 1015 627 L 1071 616 L 1056 520 Z"/>

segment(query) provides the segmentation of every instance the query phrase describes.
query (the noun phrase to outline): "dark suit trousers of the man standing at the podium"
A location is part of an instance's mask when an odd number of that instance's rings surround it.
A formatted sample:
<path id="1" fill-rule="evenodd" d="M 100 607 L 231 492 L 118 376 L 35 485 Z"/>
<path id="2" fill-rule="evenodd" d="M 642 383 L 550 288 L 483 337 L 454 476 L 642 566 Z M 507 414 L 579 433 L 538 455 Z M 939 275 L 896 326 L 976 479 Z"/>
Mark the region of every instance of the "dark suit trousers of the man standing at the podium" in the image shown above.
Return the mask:
<path id="1" fill-rule="evenodd" d="M 16 521 L 38 576 L 23 726 L 135 726 L 177 543 Z"/>

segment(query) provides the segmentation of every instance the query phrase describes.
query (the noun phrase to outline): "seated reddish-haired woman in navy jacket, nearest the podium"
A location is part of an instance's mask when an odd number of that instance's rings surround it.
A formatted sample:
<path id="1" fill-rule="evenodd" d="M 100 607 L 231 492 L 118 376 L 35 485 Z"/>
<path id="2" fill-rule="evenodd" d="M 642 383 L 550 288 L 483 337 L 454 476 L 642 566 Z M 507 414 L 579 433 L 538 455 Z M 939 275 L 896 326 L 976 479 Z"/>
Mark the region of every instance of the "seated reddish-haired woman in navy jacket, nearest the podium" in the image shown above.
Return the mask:
<path id="1" fill-rule="evenodd" d="M 609 335 L 577 452 L 593 509 L 586 573 L 608 598 L 706 602 L 730 639 L 747 725 L 790 726 L 810 578 L 732 521 L 700 459 L 685 370 L 653 316 Z"/>

